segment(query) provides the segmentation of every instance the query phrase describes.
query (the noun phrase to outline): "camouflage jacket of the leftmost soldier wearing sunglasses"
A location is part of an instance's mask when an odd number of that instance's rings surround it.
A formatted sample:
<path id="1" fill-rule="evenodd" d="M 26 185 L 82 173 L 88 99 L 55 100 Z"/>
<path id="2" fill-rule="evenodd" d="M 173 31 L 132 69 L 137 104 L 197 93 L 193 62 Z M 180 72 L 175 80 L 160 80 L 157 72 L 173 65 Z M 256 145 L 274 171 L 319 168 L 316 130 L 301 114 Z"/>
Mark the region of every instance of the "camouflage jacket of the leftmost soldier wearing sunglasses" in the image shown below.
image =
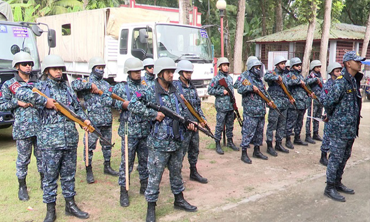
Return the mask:
<path id="1" fill-rule="evenodd" d="M 36 75 L 31 75 L 29 82 L 38 82 Z M 0 91 L 0 111 L 11 111 L 14 116 L 13 139 L 25 139 L 37 135 L 39 119 L 36 107 L 23 108 L 18 105 L 15 93 L 20 86 L 27 85 L 27 82 L 19 76 L 14 77 L 2 84 Z"/>

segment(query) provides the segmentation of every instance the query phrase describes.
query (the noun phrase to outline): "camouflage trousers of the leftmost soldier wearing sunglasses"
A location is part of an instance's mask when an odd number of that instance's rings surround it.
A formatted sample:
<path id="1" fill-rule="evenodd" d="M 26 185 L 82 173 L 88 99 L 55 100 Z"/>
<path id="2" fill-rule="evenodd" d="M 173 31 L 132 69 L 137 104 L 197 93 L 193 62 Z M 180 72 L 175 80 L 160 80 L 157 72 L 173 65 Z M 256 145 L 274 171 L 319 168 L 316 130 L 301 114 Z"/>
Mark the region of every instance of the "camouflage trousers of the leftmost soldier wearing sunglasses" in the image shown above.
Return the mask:
<path id="1" fill-rule="evenodd" d="M 37 138 L 29 137 L 26 139 L 17 140 L 17 161 L 15 162 L 17 169 L 17 177 L 25 178 L 28 173 L 28 164 L 31 162 L 32 146 L 34 147 L 34 155 L 36 157 L 37 171 L 42 172 L 41 150 L 37 147 Z"/>

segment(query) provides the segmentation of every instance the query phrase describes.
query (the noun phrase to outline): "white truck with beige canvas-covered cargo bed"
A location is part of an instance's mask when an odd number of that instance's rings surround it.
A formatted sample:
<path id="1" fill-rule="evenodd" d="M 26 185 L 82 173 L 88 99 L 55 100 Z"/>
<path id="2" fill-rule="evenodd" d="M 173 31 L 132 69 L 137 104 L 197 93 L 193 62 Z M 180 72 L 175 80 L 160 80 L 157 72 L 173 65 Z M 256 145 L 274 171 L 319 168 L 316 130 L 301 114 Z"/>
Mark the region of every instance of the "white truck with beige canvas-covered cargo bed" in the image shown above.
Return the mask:
<path id="1" fill-rule="evenodd" d="M 207 87 L 214 75 L 213 51 L 207 31 L 201 27 L 172 23 L 165 12 L 125 7 L 45 16 L 37 22 L 55 29 L 58 46 L 51 53 L 64 59 L 69 82 L 91 73 L 88 61 L 94 56 L 104 58 L 107 66 L 103 77 L 111 84 L 126 80 L 123 67 L 130 57 L 170 57 L 176 63 L 190 60 L 194 65 L 192 82 L 199 96 L 209 96 Z M 42 49 L 45 40 L 37 39 L 41 58 L 47 52 Z M 175 73 L 174 79 L 177 78 Z"/>

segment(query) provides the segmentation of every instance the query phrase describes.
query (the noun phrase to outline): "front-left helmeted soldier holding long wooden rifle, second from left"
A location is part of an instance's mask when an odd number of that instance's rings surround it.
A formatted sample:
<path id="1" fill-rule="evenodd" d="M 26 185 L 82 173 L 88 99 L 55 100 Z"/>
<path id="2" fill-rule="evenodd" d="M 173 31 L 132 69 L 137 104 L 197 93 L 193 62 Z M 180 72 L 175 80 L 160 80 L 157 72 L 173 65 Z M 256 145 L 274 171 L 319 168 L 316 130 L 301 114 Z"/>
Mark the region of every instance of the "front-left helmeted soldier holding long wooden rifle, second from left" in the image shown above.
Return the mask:
<path id="1" fill-rule="evenodd" d="M 41 71 L 47 79 L 39 83 L 29 83 L 17 90 L 18 100 L 37 106 L 40 116 L 40 130 L 37 132 L 37 145 L 42 154 L 43 202 L 47 204 L 44 222 L 55 221 L 55 201 L 57 180 L 60 175 L 62 194 L 66 199 L 66 214 L 86 219 L 89 214 L 81 211 L 74 202 L 74 175 L 76 173 L 78 132 L 75 123 L 61 112 L 56 111 L 55 101 L 61 102 L 74 111 L 87 125 L 90 121 L 79 105 L 72 88 L 63 80 L 66 71 L 60 56 L 48 55 L 44 58 Z M 49 98 L 32 92 L 37 88 Z M 88 131 L 87 127 L 84 130 Z"/>

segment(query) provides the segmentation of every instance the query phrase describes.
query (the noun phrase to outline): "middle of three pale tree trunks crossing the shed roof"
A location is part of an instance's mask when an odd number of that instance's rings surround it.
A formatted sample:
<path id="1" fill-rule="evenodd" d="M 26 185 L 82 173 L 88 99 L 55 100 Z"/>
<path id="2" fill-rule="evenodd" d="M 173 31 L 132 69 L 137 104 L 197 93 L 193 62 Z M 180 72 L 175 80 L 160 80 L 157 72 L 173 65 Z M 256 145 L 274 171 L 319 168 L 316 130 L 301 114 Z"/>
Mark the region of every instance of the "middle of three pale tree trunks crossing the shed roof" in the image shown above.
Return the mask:
<path id="1" fill-rule="evenodd" d="M 331 13 L 332 13 L 332 0 L 325 0 L 324 22 L 320 43 L 321 73 L 324 73 L 326 71 L 326 65 L 328 61 L 328 43 L 331 24 Z"/>

